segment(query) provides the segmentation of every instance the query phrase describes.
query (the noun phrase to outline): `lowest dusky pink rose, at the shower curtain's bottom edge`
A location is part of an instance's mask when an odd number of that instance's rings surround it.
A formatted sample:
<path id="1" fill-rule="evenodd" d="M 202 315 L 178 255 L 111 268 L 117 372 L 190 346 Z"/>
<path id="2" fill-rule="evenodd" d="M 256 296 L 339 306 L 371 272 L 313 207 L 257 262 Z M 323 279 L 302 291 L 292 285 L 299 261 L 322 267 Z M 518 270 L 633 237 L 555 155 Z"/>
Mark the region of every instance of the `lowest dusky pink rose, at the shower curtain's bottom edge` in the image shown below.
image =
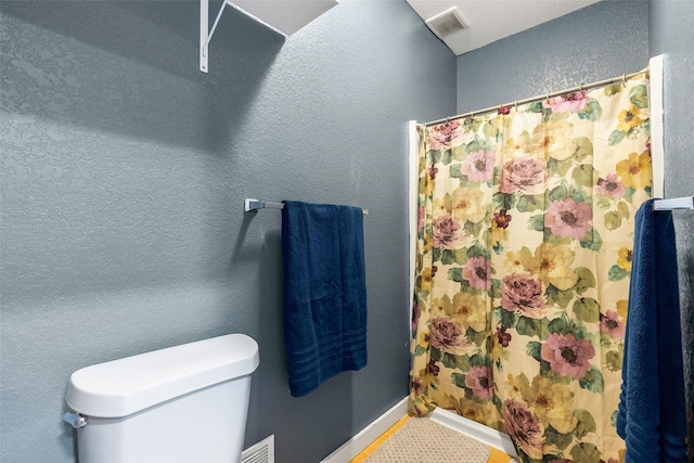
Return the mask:
<path id="1" fill-rule="evenodd" d="M 503 402 L 503 422 L 511 438 L 534 460 L 542 460 L 544 427 L 527 406 L 516 400 Z"/>

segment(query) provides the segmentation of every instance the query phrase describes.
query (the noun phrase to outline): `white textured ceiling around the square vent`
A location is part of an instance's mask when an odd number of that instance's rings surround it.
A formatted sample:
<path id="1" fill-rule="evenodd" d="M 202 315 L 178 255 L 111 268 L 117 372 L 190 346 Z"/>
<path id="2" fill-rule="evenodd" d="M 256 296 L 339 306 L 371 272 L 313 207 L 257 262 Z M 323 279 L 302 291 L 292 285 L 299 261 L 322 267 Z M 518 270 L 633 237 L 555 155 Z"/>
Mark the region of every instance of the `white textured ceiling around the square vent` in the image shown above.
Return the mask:
<path id="1" fill-rule="evenodd" d="M 600 0 L 406 0 L 426 21 L 453 7 L 466 28 L 435 31 L 457 55 L 564 16 Z"/>

